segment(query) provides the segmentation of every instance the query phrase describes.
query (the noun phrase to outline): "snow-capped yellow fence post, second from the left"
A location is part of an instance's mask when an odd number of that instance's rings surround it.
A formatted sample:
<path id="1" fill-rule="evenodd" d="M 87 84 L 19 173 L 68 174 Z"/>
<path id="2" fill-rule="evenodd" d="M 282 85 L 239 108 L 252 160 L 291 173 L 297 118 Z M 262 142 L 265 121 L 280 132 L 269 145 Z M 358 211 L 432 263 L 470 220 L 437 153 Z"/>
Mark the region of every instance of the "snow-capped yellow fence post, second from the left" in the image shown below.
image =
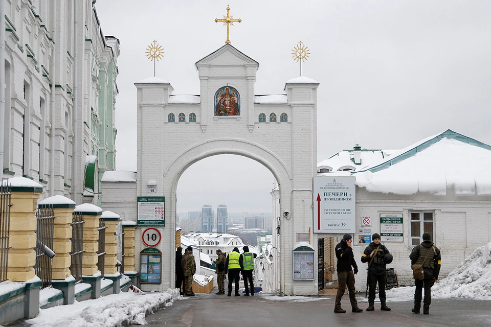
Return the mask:
<path id="1" fill-rule="evenodd" d="M 70 266 L 72 264 L 72 220 L 75 202 L 62 195 L 55 195 L 39 202 L 39 208 L 53 207 L 55 212 L 55 228 L 53 233 L 52 284 L 63 292 L 63 304 L 71 305 L 75 302 L 75 278 Z"/>

